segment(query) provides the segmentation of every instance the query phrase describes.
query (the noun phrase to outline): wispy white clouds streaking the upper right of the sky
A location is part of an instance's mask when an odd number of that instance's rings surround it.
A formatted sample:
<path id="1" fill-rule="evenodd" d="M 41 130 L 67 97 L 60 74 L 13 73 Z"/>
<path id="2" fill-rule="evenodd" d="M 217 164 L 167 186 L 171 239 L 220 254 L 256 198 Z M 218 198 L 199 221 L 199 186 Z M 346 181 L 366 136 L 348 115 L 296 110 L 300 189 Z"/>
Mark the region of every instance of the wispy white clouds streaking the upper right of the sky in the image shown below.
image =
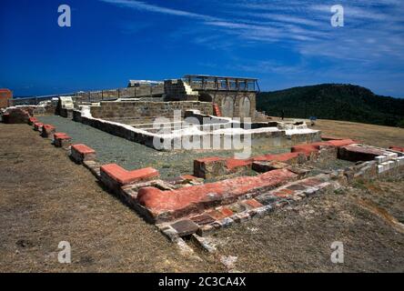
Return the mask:
<path id="1" fill-rule="evenodd" d="M 215 3 L 212 9 L 215 15 L 136 0 L 100 1 L 139 11 L 187 17 L 203 27 L 187 37 L 192 38 L 194 44 L 211 48 L 244 45 L 243 41 L 258 45 L 277 43 L 288 44 L 288 50 L 306 58 L 323 57 L 375 67 L 404 65 L 404 16 L 401 14 L 404 1 L 400 0 L 340 0 L 345 8 L 346 25 L 338 28 L 330 25 L 330 7 L 334 1 L 318 5 L 315 0 L 234 0 Z M 261 71 L 268 68 L 278 72 L 293 71 L 288 65 L 274 65 L 268 60 L 253 66 Z"/>

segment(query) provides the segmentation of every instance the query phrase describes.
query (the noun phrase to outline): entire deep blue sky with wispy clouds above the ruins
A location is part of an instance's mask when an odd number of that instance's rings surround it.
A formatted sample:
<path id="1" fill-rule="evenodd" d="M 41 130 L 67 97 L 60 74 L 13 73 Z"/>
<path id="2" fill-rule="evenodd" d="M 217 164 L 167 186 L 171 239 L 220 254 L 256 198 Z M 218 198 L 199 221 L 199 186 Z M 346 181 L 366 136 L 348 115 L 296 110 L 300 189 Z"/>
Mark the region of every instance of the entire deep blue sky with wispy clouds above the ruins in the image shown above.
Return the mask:
<path id="1" fill-rule="evenodd" d="M 57 7 L 72 26 L 57 25 Z M 331 5 L 345 26 L 330 25 Z M 46 95 L 186 74 L 262 90 L 350 83 L 404 97 L 404 1 L 2 0 L 0 87 Z"/>

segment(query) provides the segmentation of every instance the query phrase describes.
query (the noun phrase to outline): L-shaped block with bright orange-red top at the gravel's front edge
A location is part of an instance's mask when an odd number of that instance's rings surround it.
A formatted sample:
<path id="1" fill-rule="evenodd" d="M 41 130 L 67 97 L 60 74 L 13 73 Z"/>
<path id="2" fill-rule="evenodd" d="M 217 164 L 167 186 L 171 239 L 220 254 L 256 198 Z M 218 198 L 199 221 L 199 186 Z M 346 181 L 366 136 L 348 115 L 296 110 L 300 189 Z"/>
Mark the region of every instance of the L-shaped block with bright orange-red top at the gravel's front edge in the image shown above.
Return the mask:
<path id="1" fill-rule="evenodd" d="M 105 177 L 107 180 L 118 186 L 149 181 L 158 176 L 158 171 L 153 167 L 127 171 L 116 164 L 101 166 L 101 177 Z"/>

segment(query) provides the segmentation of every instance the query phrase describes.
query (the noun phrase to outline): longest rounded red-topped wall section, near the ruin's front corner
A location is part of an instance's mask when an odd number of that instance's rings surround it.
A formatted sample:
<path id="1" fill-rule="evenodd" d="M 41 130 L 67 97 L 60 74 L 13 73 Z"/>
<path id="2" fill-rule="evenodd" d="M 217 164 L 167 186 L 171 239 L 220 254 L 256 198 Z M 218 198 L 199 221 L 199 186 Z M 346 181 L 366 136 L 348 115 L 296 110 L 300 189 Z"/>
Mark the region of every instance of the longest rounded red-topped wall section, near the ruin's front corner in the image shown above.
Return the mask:
<path id="1" fill-rule="evenodd" d="M 259 176 L 240 176 L 170 191 L 145 187 L 138 191 L 137 200 L 141 206 L 146 207 L 148 215 L 154 221 L 164 222 L 198 214 L 213 206 L 233 203 L 240 196 L 258 195 L 260 191 L 273 189 L 296 178 L 296 174 L 281 169 Z"/>

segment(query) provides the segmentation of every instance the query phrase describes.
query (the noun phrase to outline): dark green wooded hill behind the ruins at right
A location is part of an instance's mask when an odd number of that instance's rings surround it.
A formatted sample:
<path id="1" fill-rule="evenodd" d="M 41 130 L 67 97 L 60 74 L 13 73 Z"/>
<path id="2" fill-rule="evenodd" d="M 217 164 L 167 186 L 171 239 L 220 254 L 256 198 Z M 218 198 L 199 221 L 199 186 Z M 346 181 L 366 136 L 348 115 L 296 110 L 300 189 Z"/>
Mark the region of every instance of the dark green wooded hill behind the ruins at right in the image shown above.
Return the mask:
<path id="1" fill-rule="evenodd" d="M 375 95 L 359 85 L 322 84 L 294 87 L 257 96 L 267 115 L 346 120 L 404 127 L 404 99 Z"/>

